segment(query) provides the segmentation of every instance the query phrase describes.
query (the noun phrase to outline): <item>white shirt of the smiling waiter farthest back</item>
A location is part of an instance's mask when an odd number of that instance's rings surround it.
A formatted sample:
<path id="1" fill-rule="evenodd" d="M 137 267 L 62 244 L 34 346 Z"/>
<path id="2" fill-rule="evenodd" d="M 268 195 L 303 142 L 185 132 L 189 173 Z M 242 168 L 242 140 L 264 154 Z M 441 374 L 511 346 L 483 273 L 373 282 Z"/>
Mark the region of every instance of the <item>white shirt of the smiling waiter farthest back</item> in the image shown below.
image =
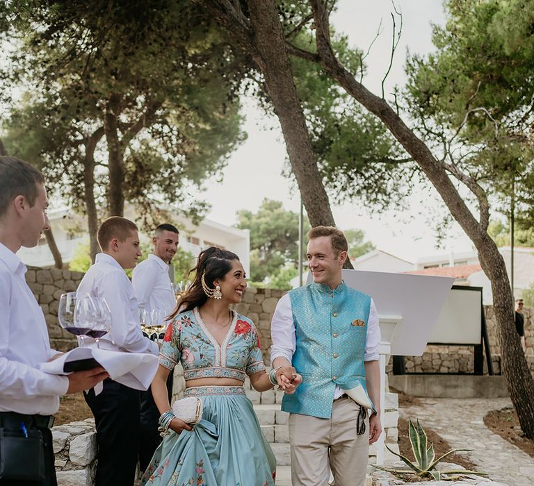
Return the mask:
<path id="1" fill-rule="evenodd" d="M 140 307 L 163 309 L 169 315 L 176 307 L 175 292 L 169 276 L 169 265 L 159 256 L 148 255 L 133 269 L 133 291 Z"/>

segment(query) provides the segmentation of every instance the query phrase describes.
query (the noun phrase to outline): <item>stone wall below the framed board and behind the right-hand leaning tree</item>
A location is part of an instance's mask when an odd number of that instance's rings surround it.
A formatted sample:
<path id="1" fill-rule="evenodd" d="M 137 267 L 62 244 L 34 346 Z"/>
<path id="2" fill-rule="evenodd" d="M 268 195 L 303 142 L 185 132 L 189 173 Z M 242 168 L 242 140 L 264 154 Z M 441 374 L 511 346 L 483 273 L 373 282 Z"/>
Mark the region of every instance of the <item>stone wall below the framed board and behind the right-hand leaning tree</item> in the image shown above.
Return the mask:
<path id="1" fill-rule="evenodd" d="M 489 351 L 492 354 L 493 370 L 501 374 L 501 344 L 497 337 L 496 320 L 493 307 L 484 307 L 486 317 Z M 534 374 L 534 309 L 525 309 L 526 360 Z M 387 372 L 391 372 L 390 360 Z M 409 373 L 473 373 L 473 346 L 447 346 L 429 344 L 421 356 L 405 356 L 405 368 Z M 487 374 L 486 356 L 484 352 L 484 374 Z"/>

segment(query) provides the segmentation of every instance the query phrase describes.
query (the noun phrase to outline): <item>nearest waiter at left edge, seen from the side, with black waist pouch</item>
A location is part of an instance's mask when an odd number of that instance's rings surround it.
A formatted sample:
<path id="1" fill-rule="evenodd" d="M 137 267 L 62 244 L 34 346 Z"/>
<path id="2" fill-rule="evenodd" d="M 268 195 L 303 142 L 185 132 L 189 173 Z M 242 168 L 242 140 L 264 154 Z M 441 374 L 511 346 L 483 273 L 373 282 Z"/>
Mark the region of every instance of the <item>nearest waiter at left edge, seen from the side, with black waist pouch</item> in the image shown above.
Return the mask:
<path id="1" fill-rule="evenodd" d="M 104 369 L 69 376 L 36 368 L 59 353 L 50 349 L 47 324 L 15 255 L 33 247 L 49 228 L 42 174 L 13 157 L 0 157 L 0 485 L 55 486 L 50 427 L 59 397 L 107 378 Z"/>

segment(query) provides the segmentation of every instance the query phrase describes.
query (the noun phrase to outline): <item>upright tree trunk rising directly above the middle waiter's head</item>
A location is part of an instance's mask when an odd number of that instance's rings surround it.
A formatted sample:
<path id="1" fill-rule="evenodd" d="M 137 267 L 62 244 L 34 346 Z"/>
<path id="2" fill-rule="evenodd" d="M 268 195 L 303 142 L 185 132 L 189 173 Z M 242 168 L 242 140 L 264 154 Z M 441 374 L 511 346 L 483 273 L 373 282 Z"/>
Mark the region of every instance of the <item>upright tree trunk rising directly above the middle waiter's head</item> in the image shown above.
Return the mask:
<path id="1" fill-rule="evenodd" d="M 104 115 L 104 131 L 108 143 L 108 215 L 124 215 L 124 153 L 119 140 L 118 113 L 120 97 L 113 95 Z"/>

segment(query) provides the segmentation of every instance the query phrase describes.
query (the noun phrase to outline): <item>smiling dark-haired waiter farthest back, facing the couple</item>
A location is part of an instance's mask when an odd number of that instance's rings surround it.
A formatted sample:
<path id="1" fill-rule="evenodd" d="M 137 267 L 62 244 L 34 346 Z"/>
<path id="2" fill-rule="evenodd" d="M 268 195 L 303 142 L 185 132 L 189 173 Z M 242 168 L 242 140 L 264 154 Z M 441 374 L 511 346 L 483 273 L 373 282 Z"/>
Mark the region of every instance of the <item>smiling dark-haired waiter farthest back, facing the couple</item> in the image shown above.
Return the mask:
<path id="1" fill-rule="evenodd" d="M 147 312 L 161 309 L 170 315 L 176 306 L 175 292 L 169 276 L 169 265 L 178 249 L 179 233 L 172 224 L 160 224 L 154 231 L 154 253 L 133 269 L 131 283 L 139 308 Z M 172 395 L 172 373 L 167 381 L 169 399 Z M 139 444 L 139 469 L 144 471 L 156 447 L 161 443 L 158 430 L 159 410 L 152 392 L 141 392 L 141 430 Z"/>

